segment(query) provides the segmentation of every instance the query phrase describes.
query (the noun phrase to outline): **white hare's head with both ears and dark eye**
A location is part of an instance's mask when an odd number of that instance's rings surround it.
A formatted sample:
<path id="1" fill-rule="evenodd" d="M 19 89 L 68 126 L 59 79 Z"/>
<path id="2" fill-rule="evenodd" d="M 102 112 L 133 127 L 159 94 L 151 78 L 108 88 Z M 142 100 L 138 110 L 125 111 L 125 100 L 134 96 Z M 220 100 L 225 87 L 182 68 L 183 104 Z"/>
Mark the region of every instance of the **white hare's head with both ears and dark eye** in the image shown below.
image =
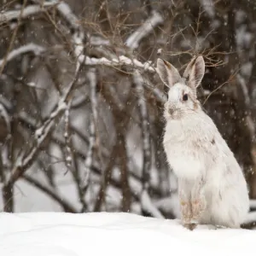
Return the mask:
<path id="1" fill-rule="evenodd" d="M 170 88 L 165 105 L 166 119 L 181 119 L 185 114 L 201 109 L 196 98 L 196 88 L 201 84 L 205 73 L 205 61 L 202 56 L 193 58 L 186 67 L 183 77 L 171 63 L 157 60 L 157 73 Z"/>

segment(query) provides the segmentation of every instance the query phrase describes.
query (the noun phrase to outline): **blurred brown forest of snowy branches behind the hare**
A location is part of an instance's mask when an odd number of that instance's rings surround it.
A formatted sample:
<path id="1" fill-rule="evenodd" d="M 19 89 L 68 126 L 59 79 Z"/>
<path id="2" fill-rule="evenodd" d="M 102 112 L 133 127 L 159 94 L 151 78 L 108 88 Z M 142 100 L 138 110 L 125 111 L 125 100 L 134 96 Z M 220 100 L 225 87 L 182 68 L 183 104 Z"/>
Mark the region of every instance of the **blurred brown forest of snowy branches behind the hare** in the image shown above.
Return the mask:
<path id="1" fill-rule="evenodd" d="M 1 210 L 177 218 L 154 68 L 194 55 L 255 210 L 255 35 L 254 0 L 0 0 Z"/>

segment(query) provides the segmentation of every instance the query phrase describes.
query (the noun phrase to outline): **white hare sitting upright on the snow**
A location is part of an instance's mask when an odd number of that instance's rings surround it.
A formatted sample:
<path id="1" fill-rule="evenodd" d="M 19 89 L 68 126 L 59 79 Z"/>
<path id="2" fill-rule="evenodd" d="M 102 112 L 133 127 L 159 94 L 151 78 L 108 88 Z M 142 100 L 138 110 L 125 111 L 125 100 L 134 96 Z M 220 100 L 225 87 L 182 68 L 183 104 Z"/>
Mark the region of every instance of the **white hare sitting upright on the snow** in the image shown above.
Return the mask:
<path id="1" fill-rule="evenodd" d="M 240 228 L 247 216 L 247 183 L 234 154 L 196 98 L 205 73 L 202 56 L 183 77 L 171 63 L 157 60 L 157 73 L 170 90 L 165 105 L 164 148 L 177 176 L 183 225 Z"/>

